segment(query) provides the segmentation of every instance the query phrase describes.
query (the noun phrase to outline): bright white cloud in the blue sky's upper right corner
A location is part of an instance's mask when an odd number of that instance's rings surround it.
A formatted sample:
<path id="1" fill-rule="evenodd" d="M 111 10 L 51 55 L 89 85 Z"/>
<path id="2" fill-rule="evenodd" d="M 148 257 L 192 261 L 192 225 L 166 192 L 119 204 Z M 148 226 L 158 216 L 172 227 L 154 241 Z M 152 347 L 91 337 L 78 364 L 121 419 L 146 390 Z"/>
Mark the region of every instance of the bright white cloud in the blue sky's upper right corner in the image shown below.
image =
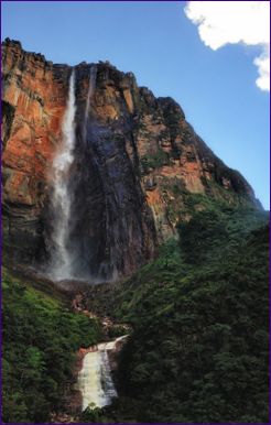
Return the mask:
<path id="1" fill-rule="evenodd" d="M 253 61 L 259 72 L 256 84 L 270 90 L 270 1 L 187 1 L 185 14 L 213 51 L 237 43 L 260 46 Z"/>

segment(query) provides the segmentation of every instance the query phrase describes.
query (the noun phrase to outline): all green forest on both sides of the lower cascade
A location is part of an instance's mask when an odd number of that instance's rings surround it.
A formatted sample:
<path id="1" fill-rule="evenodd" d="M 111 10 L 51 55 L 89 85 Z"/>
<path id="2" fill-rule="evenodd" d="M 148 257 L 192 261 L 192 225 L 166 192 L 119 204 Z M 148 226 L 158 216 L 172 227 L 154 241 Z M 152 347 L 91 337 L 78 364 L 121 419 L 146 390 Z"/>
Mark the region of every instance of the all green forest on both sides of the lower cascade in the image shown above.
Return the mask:
<path id="1" fill-rule="evenodd" d="M 132 330 L 119 397 L 77 422 L 269 422 L 268 215 L 197 207 L 155 260 L 100 291 L 99 309 Z M 98 320 L 37 286 L 4 271 L 3 422 L 48 421 L 76 350 L 102 339 Z"/>

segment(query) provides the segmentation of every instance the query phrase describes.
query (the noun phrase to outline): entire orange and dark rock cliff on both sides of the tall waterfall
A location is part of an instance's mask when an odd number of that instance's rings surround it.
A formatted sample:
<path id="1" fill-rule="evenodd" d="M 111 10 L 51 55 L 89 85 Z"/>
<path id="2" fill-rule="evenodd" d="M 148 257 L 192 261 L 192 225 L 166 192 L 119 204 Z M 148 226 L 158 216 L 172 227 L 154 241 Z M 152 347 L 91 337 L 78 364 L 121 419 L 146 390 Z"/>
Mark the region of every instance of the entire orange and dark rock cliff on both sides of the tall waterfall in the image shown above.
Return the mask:
<path id="1" fill-rule="evenodd" d="M 3 215 L 7 250 L 50 259 L 52 159 L 62 139 L 71 67 L 2 44 Z M 87 108 L 90 68 L 95 88 Z M 171 98 L 138 87 L 109 63 L 79 64 L 71 171 L 71 246 L 93 275 L 129 274 L 187 219 L 187 194 L 257 206 L 243 177 L 195 134 Z M 86 116 L 86 110 L 88 113 Z"/>

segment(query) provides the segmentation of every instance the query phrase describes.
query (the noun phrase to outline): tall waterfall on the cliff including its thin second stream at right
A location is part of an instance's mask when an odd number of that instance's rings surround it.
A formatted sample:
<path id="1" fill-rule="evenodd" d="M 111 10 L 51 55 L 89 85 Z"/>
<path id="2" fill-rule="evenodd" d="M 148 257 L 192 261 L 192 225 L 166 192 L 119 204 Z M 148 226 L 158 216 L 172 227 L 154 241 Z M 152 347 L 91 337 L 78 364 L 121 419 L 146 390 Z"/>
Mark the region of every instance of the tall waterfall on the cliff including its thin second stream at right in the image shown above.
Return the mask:
<path id="1" fill-rule="evenodd" d="M 96 86 L 96 66 L 90 67 L 89 86 L 86 97 L 85 116 L 82 127 L 82 139 L 86 144 L 87 122 L 89 118 L 89 109 L 93 94 Z M 73 204 L 75 200 L 75 186 L 73 184 L 73 168 L 75 165 L 75 70 L 73 69 L 69 78 L 69 89 L 66 111 L 62 123 L 62 144 L 56 153 L 52 174 L 53 174 L 53 190 L 51 198 L 51 208 L 53 211 L 53 261 L 51 274 L 56 280 L 74 279 L 78 276 L 78 252 L 76 244 L 72 241 L 74 229 Z M 82 268 L 79 268 L 82 269 Z M 82 276 L 82 274 L 80 274 Z"/>

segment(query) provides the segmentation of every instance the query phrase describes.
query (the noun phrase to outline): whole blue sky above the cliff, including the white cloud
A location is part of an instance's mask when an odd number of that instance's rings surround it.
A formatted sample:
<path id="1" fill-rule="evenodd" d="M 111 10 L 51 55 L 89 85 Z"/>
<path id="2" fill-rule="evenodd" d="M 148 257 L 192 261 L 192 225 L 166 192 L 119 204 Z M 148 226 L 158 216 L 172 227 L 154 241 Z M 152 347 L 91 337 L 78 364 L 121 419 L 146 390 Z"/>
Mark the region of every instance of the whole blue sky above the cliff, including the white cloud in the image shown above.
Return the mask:
<path id="1" fill-rule="evenodd" d="M 264 4 L 263 4 L 264 3 Z M 2 40 L 55 63 L 110 61 L 171 96 L 269 208 L 269 1 L 2 1 Z"/>

